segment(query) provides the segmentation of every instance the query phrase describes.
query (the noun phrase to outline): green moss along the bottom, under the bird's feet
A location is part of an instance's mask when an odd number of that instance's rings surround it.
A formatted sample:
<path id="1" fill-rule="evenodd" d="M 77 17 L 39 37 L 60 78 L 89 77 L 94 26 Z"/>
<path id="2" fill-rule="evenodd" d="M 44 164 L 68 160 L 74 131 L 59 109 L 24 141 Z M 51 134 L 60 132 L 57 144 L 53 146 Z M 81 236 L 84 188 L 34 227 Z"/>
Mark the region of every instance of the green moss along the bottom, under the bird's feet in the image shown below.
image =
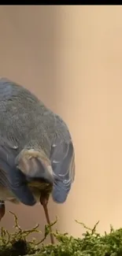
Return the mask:
<path id="1" fill-rule="evenodd" d="M 14 213 L 12 213 L 14 215 Z M 22 230 L 15 218 L 16 232 L 9 234 L 4 228 L 0 236 L 0 256 L 122 256 L 122 228 L 114 230 L 110 226 L 110 232 L 101 236 L 94 228 L 87 228 L 80 223 L 85 232 L 82 238 L 76 239 L 68 234 L 54 233 L 58 243 L 44 245 L 43 240 L 50 233 L 50 227 L 46 225 L 44 238 L 37 243 L 35 239 L 28 241 L 27 236 L 33 232 L 39 232 L 37 225 L 31 230 Z M 57 221 L 54 221 L 54 225 Z M 78 221 L 76 221 L 78 222 Z"/>

